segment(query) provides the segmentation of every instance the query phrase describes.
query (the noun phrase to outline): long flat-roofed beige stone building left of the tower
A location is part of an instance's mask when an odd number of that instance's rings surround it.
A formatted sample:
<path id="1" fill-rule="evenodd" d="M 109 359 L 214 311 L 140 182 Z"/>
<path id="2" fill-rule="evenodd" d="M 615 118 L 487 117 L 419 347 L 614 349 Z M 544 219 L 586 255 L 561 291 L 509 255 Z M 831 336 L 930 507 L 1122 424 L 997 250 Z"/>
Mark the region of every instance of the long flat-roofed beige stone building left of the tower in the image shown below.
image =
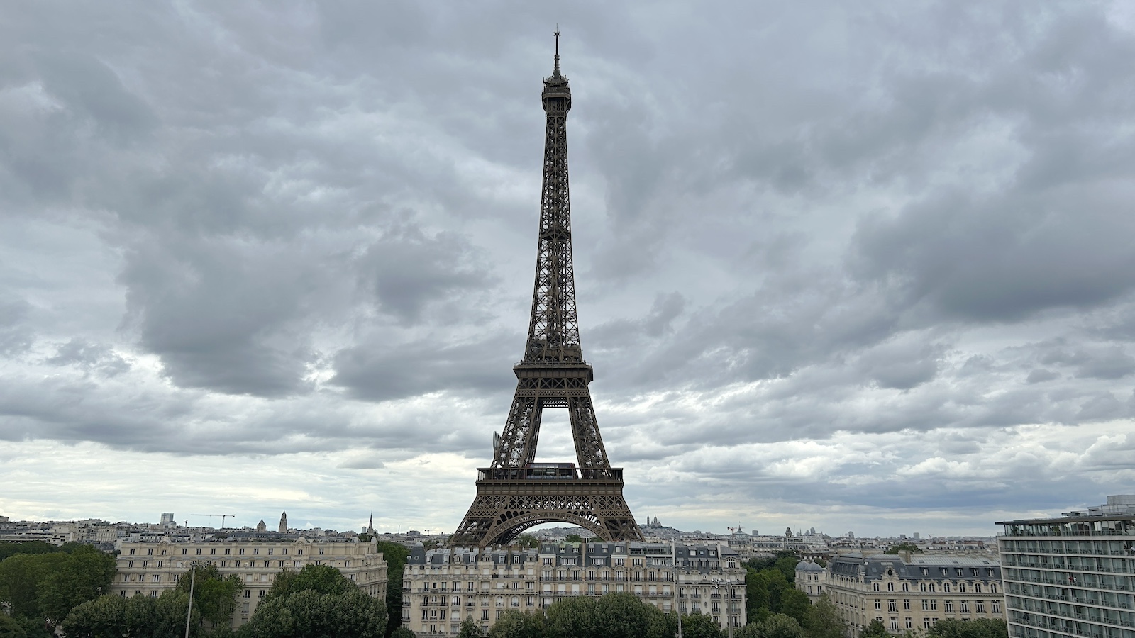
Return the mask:
<path id="1" fill-rule="evenodd" d="M 200 543 L 123 543 L 118 573 L 110 593 L 119 596 L 160 596 L 194 562 L 217 565 L 244 584 L 233 613 L 233 627 L 252 618 L 257 603 L 272 586 L 276 574 L 299 571 L 304 565 L 331 565 L 355 581 L 367 594 L 386 599 L 386 560 L 373 543 L 328 543 L 296 540 L 238 540 Z"/>

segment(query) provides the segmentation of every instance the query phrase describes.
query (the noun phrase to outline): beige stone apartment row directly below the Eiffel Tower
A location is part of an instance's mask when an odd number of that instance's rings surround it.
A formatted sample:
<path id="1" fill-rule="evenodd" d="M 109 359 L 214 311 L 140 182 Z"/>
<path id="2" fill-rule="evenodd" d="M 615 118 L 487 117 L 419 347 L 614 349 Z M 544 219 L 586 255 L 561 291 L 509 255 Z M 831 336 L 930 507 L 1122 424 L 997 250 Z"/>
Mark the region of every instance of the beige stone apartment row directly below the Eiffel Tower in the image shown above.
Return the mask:
<path id="1" fill-rule="evenodd" d="M 634 594 L 663 612 L 712 614 L 743 627 L 745 568 L 728 545 L 544 544 L 539 549 L 411 549 L 402 626 L 455 636 L 472 618 L 484 631 L 504 612 L 536 612 L 571 596 Z"/>

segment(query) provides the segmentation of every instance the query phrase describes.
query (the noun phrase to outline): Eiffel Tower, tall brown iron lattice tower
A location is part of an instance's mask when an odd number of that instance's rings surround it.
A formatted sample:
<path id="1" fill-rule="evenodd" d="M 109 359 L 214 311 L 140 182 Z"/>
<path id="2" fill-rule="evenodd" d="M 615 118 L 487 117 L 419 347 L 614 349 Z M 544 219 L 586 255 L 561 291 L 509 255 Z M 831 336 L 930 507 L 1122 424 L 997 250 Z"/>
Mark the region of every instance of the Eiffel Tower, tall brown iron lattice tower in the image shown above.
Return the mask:
<path id="1" fill-rule="evenodd" d="M 555 68 L 540 94 L 547 128 L 528 341 L 524 358 L 512 368 L 516 394 L 504 434 L 494 434 L 493 465 L 478 469 L 477 498 L 451 539 L 454 546 L 504 545 L 552 521 L 578 524 L 604 540 L 642 540 L 623 498 L 623 470 L 611 467 L 603 448 L 587 387 L 595 375 L 579 341 L 568 194 L 571 90 L 560 74 L 560 32 L 555 35 Z M 535 462 L 545 408 L 568 410 L 578 467 Z"/>

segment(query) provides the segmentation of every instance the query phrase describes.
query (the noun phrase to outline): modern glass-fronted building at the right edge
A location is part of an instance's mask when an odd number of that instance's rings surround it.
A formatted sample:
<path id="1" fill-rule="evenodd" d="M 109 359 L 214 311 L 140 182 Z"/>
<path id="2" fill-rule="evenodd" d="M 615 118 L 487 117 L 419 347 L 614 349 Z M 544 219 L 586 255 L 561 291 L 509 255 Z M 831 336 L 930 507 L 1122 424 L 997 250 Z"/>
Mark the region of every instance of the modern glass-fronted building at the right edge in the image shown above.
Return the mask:
<path id="1" fill-rule="evenodd" d="M 998 524 L 1010 638 L 1135 638 L 1135 495 Z"/>

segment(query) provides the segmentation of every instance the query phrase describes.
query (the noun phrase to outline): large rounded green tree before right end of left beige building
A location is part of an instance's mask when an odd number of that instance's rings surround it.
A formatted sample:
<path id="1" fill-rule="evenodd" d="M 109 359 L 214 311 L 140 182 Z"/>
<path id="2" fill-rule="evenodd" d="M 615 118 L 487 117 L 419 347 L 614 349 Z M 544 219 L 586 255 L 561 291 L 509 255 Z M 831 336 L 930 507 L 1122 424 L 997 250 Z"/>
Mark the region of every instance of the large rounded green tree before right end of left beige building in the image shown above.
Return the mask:
<path id="1" fill-rule="evenodd" d="M 386 604 L 330 565 L 281 572 L 242 635 L 252 638 L 380 638 Z"/>

